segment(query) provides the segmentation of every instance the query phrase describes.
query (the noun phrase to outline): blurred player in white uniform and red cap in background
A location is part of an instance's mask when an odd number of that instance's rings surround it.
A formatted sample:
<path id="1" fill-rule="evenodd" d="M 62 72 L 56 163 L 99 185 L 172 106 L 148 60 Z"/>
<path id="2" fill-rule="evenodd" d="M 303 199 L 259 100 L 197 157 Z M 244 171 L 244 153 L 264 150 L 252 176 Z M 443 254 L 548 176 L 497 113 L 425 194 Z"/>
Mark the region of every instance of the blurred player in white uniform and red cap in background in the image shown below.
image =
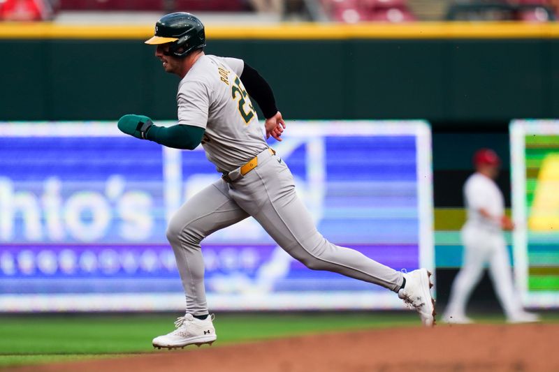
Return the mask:
<path id="1" fill-rule="evenodd" d="M 523 310 L 514 290 L 511 265 L 502 230 L 513 230 L 514 224 L 504 214 L 504 198 L 495 183 L 500 158 L 491 149 L 479 149 L 473 158 L 476 172 L 464 184 L 467 221 L 462 228 L 463 267 L 451 288 L 443 320 L 471 323 L 465 313 L 467 300 L 479 283 L 484 265 L 508 322 L 537 322 L 538 316 Z"/>

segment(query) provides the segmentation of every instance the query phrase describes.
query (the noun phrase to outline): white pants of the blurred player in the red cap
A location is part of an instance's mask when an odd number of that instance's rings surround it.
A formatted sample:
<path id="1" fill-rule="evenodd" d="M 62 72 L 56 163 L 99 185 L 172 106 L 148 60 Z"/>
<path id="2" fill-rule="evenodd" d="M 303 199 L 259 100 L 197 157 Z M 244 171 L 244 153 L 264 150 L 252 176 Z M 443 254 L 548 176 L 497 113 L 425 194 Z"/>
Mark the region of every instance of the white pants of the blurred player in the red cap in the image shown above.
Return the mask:
<path id="1" fill-rule="evenodd" d="M 463 267 L 452 283 L 447 316 L 465 316 L 467 300 L 488 263 L 493 288 L 507 318 L 522 311 L 514 290 L 507 245 L 500 230 L 466 223 L 462 229 Z"/>

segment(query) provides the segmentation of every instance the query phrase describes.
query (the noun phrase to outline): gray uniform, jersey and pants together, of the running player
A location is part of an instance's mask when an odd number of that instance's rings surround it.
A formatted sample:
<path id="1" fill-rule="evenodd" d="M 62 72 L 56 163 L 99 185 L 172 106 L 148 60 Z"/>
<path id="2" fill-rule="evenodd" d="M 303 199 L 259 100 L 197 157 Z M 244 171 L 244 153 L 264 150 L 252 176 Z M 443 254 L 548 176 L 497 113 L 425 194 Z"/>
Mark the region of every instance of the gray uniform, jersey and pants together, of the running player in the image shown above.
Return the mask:
<path id="1" fill-rule="evenodd" d="M 291 257 L 312 269 L 334 271 L 398 291 L 402 273 L 350 248 L 332 244 L 318 231 L 295 191 L 293 175 L 268 151 L 258 118 L 240 82 L 244 62 L 202 55 L 180 82 L 179 124 L 205 128 L 203 147 L 218 170 L 231 172 L 258 156 L 240 179 L 223 179 L 189 198 L 170 219 L 173 247 L 187 312 L 208 313 L 201 241 L 212 232 L 252 216 Z"/>

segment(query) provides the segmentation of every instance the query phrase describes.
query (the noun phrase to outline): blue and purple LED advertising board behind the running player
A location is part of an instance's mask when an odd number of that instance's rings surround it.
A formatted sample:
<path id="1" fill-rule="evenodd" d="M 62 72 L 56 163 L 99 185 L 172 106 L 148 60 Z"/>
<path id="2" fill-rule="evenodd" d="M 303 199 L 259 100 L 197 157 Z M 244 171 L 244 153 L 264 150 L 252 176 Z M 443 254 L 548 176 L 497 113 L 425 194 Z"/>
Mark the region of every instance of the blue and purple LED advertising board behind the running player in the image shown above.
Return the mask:
<path id="1" fill-rule="evenodd" d="M 434 267 L 425 122 L 287 125 L 271 145 L 327 239 L 394 269 Z M 184 310 L 167 221 L 220 176 L 201 147 L 115 123 L 0 123 L 0 311 Z M 202 247 L 212 311 L 402 307 L 389 290 L 307 269 L 253 218 Z"/>

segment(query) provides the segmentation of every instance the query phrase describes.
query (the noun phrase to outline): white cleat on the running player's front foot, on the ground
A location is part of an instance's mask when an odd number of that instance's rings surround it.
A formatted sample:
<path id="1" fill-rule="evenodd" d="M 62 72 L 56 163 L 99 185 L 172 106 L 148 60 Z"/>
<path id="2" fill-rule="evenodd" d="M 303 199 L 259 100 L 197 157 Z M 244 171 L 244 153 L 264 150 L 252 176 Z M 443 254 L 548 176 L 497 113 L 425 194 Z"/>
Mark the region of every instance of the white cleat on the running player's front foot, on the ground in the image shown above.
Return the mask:
<path id="1" fill-rule="evenodd" d="M 153 339 L 154 348 L 184 348 L 186 345 L 210 345 L 217 339 L 215 328 L 212 323 L 215 316 L 208 315 L 204 320 L 196 319 L 192 314 L 177 318 L 175 321 L 176 329 L 169 334 Z"/>

